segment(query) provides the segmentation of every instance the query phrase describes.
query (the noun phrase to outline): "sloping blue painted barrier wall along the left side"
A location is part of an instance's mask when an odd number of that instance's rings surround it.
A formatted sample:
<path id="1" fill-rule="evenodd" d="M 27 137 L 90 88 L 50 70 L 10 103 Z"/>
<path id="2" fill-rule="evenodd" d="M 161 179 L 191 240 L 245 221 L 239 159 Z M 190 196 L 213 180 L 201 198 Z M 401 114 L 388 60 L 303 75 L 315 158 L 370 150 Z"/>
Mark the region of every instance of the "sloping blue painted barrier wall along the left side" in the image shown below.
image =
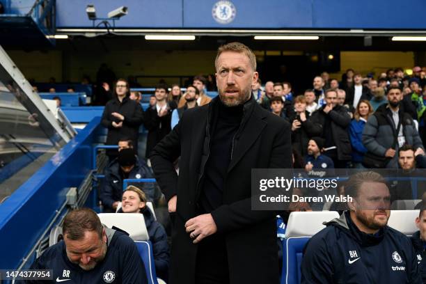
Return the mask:
<path id="1" fill-rule="evenodd" d="M 91 171 L 92 143 L 100 118 L 93 119 L 29 180 L 0 205 L 0 267 L 15 269 L 31 251 L 65 202 L 69 187 L 78 187 Z M 7 255 L 7 257 L 6 257 Z M 26 264 L 26 267 L 31 265 Z"/>

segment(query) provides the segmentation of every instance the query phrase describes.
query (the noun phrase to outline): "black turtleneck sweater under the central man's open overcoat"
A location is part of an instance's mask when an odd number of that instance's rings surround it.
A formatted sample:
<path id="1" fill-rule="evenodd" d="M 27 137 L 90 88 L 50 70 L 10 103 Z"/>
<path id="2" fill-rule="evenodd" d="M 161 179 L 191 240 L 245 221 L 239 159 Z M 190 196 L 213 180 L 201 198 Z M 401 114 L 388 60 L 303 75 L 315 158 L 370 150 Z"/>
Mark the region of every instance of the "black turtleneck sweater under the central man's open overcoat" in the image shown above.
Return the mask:
<path id="1" fill-rule="evenodd" d="M 210 213 L 223 204 L 223 187 L 231 160 L 232 139 L 239 129 L 243 104 L 226 107 L 221 100 L 213 107 L 210 154 L 205 166 L 204 187 L 200 210 Z"/>

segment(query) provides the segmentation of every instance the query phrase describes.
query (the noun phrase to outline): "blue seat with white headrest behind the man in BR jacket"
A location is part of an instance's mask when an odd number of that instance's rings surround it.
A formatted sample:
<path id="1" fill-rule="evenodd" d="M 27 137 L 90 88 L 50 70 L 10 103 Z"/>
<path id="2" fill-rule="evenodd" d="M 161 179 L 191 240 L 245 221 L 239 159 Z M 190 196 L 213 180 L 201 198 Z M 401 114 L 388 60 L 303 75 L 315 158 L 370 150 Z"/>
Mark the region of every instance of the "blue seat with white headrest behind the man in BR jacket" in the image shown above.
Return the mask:
<path id="1" fill-rule="evenodd" d="M 157 274 L 155 273 L 154 253 L 152 253 L 152 244 L 148 236 L 148 230 L 145 226 L 145 219 L 143 214 L 139 213 L 100 213 L 97 214 L 101 222 L 109 227 L 116 226 L 121 230 L 126 231 L 134 240 L 138 248 L 139 255 L 145 265 L 146 276 L 148 277 L 148 284 L 158 284 Z M 140 226 L 138 226 L 138 224 Z"/>

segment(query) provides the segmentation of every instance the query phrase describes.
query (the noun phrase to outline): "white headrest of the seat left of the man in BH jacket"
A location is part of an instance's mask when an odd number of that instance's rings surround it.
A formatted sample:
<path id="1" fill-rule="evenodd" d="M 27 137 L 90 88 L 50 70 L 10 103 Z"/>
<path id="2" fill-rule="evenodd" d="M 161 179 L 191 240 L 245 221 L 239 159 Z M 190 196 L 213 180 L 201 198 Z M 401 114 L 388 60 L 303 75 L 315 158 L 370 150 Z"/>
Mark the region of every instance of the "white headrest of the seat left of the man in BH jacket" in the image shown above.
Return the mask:
<path id="1" fill-rule="evenodd" d="M 292 212 L 285 229 L 285 238 L 312 237 L 325 228 L 322 225 L 323 222 L 331 221 L 331 219 L 338 217 L 339 214 L 336 211 Z"/>

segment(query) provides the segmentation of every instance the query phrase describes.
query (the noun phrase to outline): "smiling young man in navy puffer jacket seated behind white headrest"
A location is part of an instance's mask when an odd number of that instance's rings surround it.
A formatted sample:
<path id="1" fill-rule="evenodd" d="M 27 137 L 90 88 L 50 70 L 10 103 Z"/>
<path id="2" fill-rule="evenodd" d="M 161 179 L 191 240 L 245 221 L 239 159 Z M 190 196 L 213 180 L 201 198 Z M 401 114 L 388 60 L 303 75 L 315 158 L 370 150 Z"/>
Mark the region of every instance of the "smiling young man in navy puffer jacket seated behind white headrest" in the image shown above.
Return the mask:
<path id="1" fill-rule="evenodd" d="M 150 208 L 146 206 L 147 198 L 141 189 L 129 185 L 123 192 L 122 207 L 118 212 L 141 213 L 145 219 L 145 226 L 152 243 L 154 254 L 155 272 L 164 281 L 168 281 L 168 250 L 167 234 L 164 227 L 155 220 Z"/>

